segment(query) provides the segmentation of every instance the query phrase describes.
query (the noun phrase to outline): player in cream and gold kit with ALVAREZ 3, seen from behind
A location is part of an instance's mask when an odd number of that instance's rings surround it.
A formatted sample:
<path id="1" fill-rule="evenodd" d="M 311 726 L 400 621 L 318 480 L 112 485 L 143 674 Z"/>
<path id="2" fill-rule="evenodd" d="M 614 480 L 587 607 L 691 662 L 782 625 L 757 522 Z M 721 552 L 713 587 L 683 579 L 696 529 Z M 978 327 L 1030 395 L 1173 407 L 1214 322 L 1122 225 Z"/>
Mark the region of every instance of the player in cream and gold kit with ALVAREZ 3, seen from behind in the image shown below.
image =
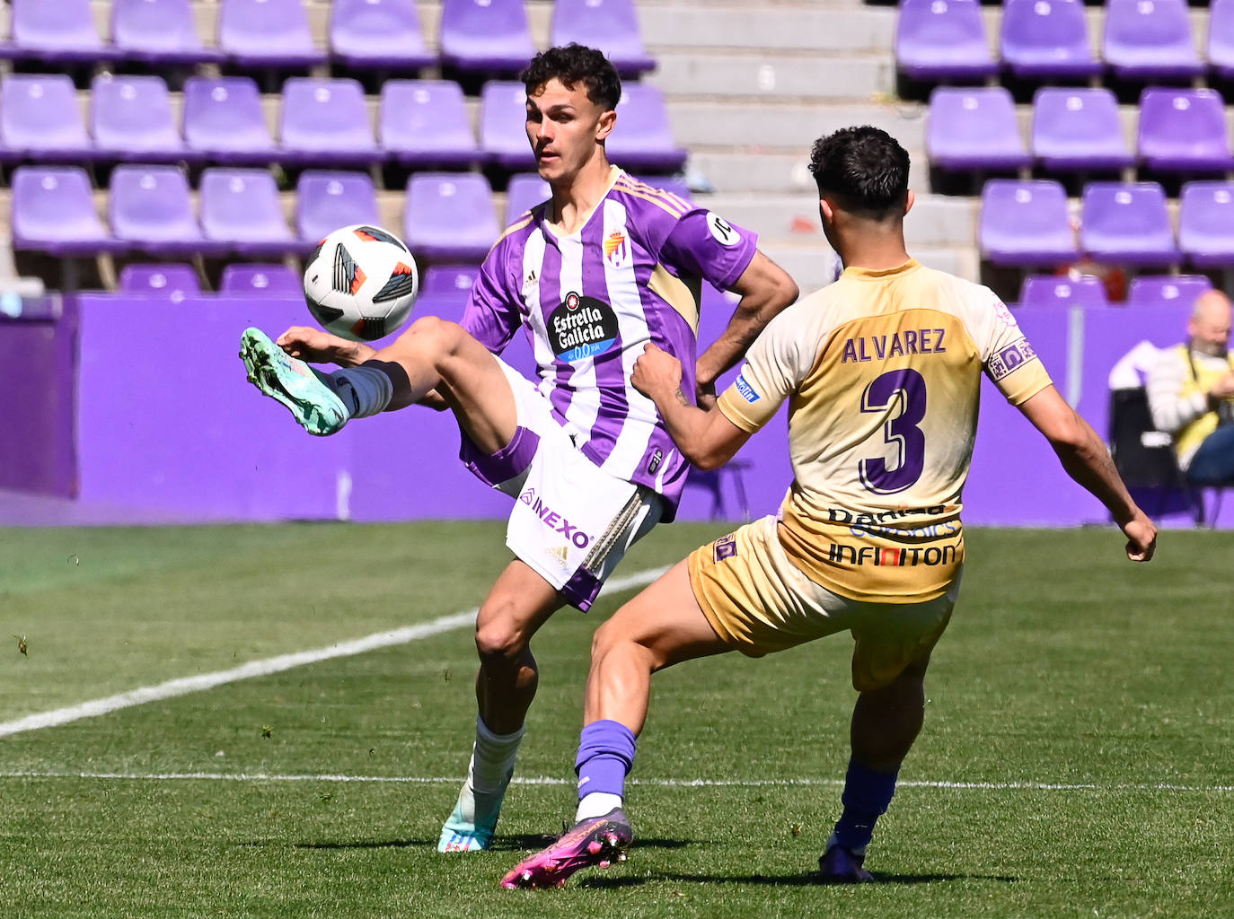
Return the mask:
<path id="1" fill-rule="evenodd" d="M 680 361 L 654 344 L 632 377 L 702 469 L 726 463 L 787 401 L 792 486 L 779 514 L 691 553 L 596 632 L 578 823 L 515 866 L 506 887 L 557 886 L 623 856 L 633 839 L 624 780 L 653 672 L 839 632 L 854 638 L 859 696 L 844 810 L 819 872 L 828 882 L 874 880 L 866 846 L 921 730 L 926 669 L 959 593 L 960 495 L 982 373 L 1109 508 L 1128 558 L 1153 556 L 1156 528 L 1006 307 L 988 289 L 909 258 L 903 148 L 876 128 L 845 128 L 814 144 L 811 170 L 840 279 L 768 324 L 713 407 L 694 405 Z"/>

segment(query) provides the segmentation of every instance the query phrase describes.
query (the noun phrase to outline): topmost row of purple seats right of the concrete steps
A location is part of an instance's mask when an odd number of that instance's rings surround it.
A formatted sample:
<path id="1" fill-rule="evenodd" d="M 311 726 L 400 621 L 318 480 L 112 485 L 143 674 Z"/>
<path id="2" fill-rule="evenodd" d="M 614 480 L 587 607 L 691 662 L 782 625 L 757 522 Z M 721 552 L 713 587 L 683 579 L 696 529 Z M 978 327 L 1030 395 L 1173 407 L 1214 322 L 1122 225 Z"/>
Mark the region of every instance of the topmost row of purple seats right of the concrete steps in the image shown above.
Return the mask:
<path id="1" fill-rule="evenodd" d="M 1197 51 L 1186 0 L 1107 0 L 1101 58 L 1082 0 L 1006 0 L 996 59 L 979 0 L 901 0 L 896 63 L 917 80 L 982 80 L 1003 65 L 1024 79 L 1190 80 L 1206 62 L 1234 75 L 1234 0 L 1213 0 L 1207 54 Z"/>

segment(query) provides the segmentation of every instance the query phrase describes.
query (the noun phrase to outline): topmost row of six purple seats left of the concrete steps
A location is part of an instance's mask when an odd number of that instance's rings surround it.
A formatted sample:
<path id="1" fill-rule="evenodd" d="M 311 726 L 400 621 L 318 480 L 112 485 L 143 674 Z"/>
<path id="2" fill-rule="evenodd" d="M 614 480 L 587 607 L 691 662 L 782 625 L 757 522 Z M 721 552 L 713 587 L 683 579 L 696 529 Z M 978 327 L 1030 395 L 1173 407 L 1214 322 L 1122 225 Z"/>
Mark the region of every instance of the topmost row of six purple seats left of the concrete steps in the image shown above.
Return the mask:
<path id="1" fill-rule="evenodd" d="M 328 51 L 313 44 L 304 0 L 220 0 L 217 46 L 197 35 L 190 0 L 112 0 L 111 42 L 90 0 L 11 0 L 11 39 L 0 57 L 44 62 L 116 59 L 168 64 L 227 62 L 515 74 L 534 53 L 523 0 L 442 0 L 439 54 L 426 48 L 415 0 L 333 0 Z M 633 0 L 555 0 L 552 42 L 598 43 L 618 70 L 655 67 L 643 48 Z"/>

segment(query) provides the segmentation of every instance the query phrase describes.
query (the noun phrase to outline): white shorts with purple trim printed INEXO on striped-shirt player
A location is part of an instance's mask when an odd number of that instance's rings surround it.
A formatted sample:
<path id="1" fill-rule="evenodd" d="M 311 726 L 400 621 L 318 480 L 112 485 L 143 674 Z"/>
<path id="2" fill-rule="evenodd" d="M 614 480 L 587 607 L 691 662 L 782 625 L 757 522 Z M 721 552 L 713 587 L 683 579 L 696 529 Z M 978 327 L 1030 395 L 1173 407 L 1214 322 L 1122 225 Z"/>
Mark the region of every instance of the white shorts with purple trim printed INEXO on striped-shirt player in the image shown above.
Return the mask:
<path id="1" fill-rule="evenodd" d="M 495 454 L 481 453 L 464 433 L 459 459 L 515 498 L 510 550 L 586 612 L 626 550 L 659 523 L 661 498 L 587 459 L 534 384 L 497 363 L 515 395 L 518 429 Z"/>

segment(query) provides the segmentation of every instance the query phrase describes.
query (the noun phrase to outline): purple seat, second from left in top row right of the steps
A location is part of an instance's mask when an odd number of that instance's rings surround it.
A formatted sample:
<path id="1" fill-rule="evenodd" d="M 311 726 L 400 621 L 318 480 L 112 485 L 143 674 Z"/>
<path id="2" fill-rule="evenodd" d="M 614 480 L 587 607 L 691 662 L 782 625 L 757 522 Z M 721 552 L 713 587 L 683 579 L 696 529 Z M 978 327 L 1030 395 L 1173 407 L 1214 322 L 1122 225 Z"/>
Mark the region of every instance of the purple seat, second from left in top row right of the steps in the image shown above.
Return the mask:
<path id="1" fill-rule="evenodd" d="M 1081 0 L 1006 0 L 1001 57 L 1017 76 L 1083 79 L 1101 73 Z"/>

